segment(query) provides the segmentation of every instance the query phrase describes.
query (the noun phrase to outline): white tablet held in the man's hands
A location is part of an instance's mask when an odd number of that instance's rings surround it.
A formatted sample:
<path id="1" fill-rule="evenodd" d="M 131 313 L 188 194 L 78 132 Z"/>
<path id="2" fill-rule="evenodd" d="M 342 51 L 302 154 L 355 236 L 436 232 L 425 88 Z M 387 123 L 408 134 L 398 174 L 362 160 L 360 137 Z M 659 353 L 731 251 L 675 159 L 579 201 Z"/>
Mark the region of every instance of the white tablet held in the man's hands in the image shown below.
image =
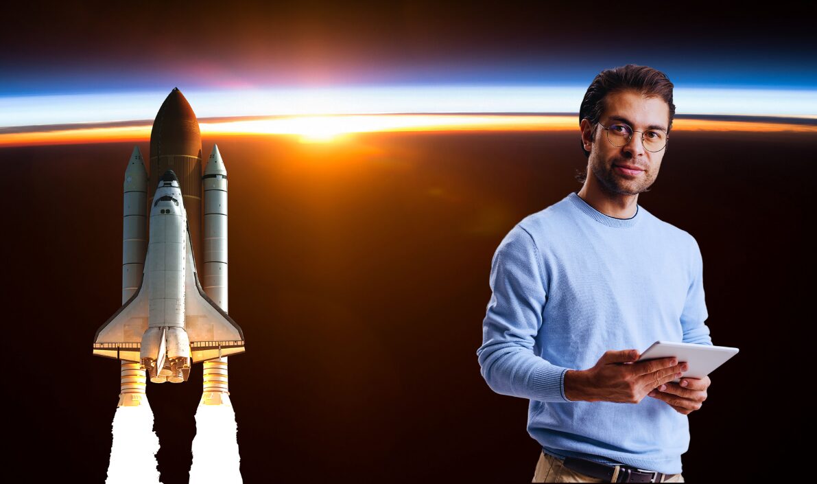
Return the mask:
<path id="1" fill-rule="evenodd" d="M 738 354 L 738 348 L 735 347 L 656 341 L 644 352 L 641 352 L 638 361 L 675 356 L 678 358 L 679 363 L 686 361 L 690 365 L 689 370 L 681 374 L 681 378 L 701 379 L 736 354 Z M 681 379 L 672 381 L 678 383 Z"/>

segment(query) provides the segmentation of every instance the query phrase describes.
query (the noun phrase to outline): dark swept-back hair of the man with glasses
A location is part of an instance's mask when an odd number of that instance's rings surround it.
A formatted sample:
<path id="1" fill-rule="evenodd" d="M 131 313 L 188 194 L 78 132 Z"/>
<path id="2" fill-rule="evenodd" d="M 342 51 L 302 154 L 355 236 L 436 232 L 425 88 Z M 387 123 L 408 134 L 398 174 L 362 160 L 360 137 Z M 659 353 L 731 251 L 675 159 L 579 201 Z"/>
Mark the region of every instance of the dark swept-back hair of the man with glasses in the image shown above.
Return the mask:
<path id="1" fill-rule="evenodd" d="M 627 64 L 623 67 L 605 69 L 596 75 L 596 78 L 590 83 L 590 87 L 587 87 L 582 105 L 578 110 L 578 123 L 581 124 L 582 119 L 587 119 L 592 124 L 598 123 L 601 114 L 604 114 L 607 107 L 605 105 L 607 95 L 611 92 L 632 89 L 640 92 L 642 96 L 660 97 L 667 102 L 667 105 L 669 105 L 668 134 L 672 130 L 672 119 L 675 118 L 675 105 L 672 104 L 672 87 L 673 85 L 667 78 L 667 74 L 646 65 Z M 585 158 L 589 158 L 590 152 L 584 149 L 583 141 L 580 140 L 579 143 L 582 145 Z M 586 177 L 587 167 L 576 175 L 579 183 L 584 183 Z"/>

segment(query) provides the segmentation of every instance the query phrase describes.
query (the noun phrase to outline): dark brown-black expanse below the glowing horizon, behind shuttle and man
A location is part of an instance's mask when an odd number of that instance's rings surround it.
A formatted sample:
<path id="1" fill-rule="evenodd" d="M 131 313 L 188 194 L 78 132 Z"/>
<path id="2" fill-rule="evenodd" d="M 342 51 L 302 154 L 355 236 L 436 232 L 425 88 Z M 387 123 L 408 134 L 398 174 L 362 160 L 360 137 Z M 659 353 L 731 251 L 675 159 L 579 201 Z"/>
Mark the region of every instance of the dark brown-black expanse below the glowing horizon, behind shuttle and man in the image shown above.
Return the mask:
<path id="1" fill-rule="evenodd" d="M 789 353 L 813 320 L 813 187 L 801 175 L 817 142 L 675 136 L 639 204 L 698 241 L 713 343 L 740 348 L 690 415 L 684 475 L 741 480 L 757 475 L 748 459 L 775 461 L 782 432 L 810 405 L 797 397 L 808 366 Z M 205 152 L 218 142 L 230 177 L 230 316 L 248 348 L 230 358 L 230 391 L 245 482 L 529 482 L 538 446 L 525 431 L 528 401 L 492 392 L 475 352 L 493 253 L 522 217 L 580 188 L 577 139 L 203 140 Z M 120 303 L 132 148 L 0 149 L 14 181 L 2 291 L 7 478 L 105 478 L 118 362 L 91 347 Z M 186 482 L 201 391 L 201 365 L 187 383 L 149 384 L 165 484 Z"/>

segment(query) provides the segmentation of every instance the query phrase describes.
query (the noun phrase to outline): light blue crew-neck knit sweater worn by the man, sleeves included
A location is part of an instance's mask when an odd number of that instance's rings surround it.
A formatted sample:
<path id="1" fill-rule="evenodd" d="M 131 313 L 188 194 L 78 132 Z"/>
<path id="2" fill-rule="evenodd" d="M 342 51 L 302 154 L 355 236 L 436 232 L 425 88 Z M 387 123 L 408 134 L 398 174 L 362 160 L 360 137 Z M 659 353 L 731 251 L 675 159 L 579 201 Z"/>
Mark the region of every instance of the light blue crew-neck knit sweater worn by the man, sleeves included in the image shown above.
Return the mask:
<path id="1" fill-rule="evenodd" d="M 712 344 L 692 235 L 641 206 L 608 217 L 571 193 L 506 235 L 490 285 L 481 373 L 494 392 L 530 399 L 528 432 L 542 450 L 681 473 L 686 415 L 653 397 L 569 401 L 565 372 L 659 339 Z"/>

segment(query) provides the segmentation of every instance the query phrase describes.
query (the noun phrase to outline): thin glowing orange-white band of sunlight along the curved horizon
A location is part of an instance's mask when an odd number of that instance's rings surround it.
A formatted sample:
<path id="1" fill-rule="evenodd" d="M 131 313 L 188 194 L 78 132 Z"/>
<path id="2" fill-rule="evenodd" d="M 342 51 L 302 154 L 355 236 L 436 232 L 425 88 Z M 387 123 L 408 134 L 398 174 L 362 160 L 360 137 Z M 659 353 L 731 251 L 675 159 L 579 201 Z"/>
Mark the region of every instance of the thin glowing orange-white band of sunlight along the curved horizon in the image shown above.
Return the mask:
<path id="1" fill-rule="evenodd" d="M 362 132 L 578 131 L 577 116 L 553 114 L 348 114 L 273 116 L 199 122 L 207 136 L 293 135 L 301 142 L 336 141 Z M 147 141 L 150 123 L 99 127 L 75 124 L 28 132 L 0 132 L 0 146 Z M 817 126 L 770 121 L 675 119 L 672 131 L 817 132 Z"/>

